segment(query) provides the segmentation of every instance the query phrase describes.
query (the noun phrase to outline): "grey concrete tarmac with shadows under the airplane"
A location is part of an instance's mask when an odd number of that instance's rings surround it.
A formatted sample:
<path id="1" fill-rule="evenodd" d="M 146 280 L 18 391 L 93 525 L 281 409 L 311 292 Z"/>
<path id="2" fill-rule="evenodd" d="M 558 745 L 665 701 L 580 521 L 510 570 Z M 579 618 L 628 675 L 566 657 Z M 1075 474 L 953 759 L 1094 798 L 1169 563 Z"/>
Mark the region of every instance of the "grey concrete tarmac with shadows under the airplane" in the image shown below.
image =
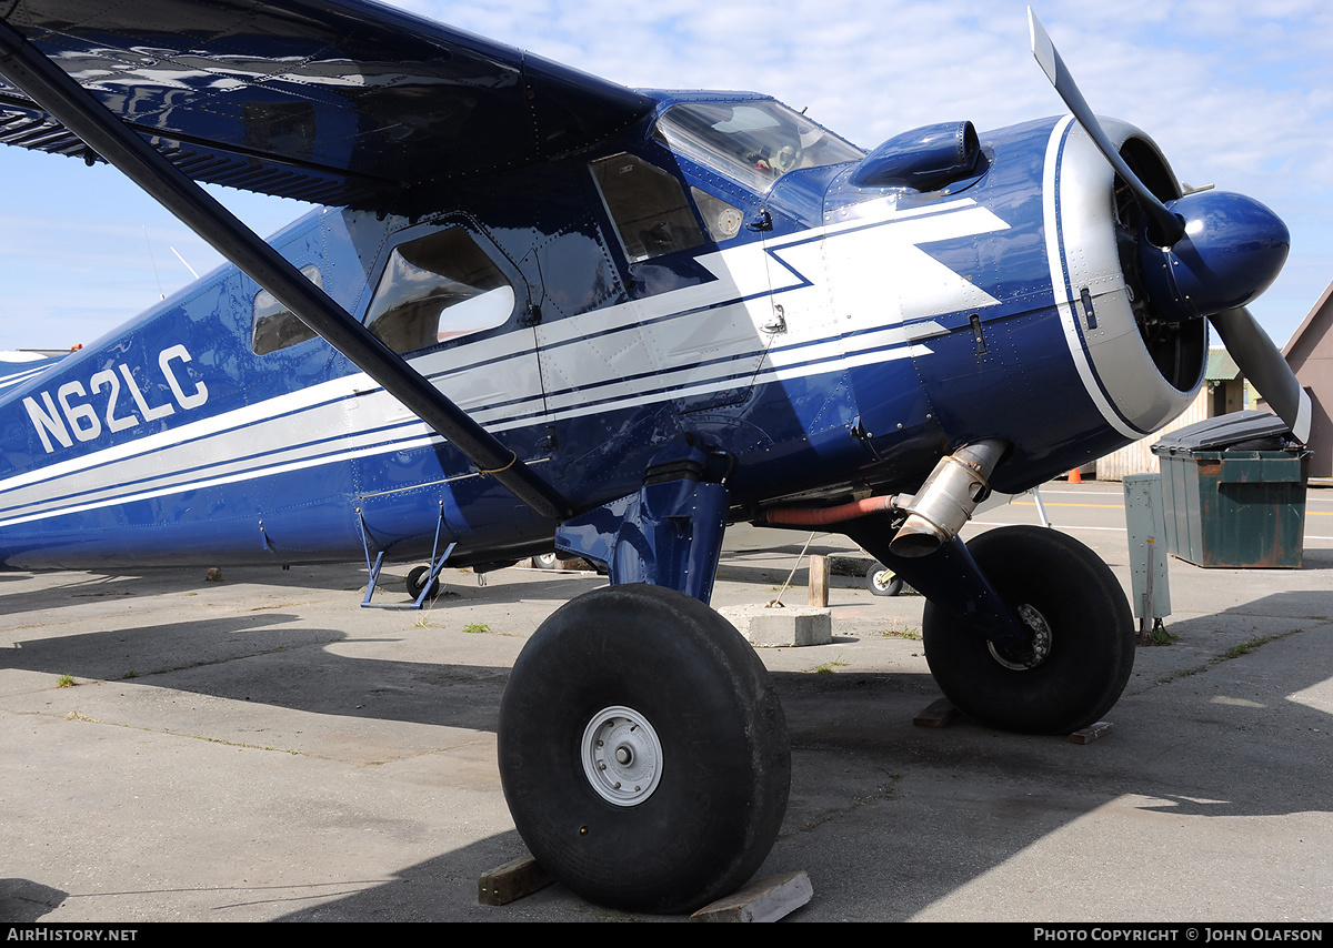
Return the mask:
<path id="1" fill-rule="evenodd" d="M 1128 590 L 1120 486 L 1042 498 Z M 1176 642 L 1138 650 L 1086 746 L 914 727 L 938 698 L 921 598 L 836 579 L 832 644 L 761 652 L 793 742 L 761 875 L 814 887 L 792 920 L 1333 919 L 1333 490 L 1312 490 L 1306 535 L 1300 570 L 1173 559 Z M 805 537 L 737 531 L 714 604 L 772 599 Z M 407 569 L 377 598 L 403 600 Z M 560 885 L 476 899 L 524 852 L 495 754 L 509 668 L 605 581 L 447 570 L 451 594 L 404 612 L 359 608 L 364 575 L 0 574 L 0 919 L 677 920 Z"/>

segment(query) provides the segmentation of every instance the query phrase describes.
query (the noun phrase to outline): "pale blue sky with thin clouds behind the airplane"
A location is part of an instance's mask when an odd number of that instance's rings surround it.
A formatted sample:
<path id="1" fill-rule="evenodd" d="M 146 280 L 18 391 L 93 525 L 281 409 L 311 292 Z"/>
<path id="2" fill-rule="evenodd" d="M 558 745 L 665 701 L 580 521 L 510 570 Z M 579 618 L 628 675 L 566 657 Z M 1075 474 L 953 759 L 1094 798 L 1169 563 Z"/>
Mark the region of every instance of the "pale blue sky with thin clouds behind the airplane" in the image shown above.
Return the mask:
<path id="1" fill-rule="evenodd" d="M 937 121 L 1058 115 L 1025 3 L 493 0 L 396 5 L 633 87 L 768 92 L 862 146 Z M 1038 3 L 1101 115 L 1130 121 L 1178 177 L 1246 193 L 1292 230 L 1252 309 L 1281 345 L 1333 280 L 1333 8 L 1304 0 Z M 108 168 L 0 148 L 0 350 L 88 344 L 220 260 Z M 215 189 L 261 233 L 292 201 Z"/>

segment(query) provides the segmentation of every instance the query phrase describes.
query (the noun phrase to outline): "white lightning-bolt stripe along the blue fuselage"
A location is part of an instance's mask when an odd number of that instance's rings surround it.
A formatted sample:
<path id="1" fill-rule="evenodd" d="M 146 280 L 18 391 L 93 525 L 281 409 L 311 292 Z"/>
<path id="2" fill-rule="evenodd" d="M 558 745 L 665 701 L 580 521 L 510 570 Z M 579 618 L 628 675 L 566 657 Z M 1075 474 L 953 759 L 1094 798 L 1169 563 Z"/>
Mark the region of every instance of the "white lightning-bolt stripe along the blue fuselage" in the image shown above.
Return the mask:
<path id="1" fill-rule="evenodd" d="M 946 332 L 929 317 L 996 302 L 917 246 L 1004 229 L 985 208 L 964 198 L 898 212 L 874 201 L 850 214 L 766 246 L 704 254 L 713 281 L 412 366 L 500 433 L 926 356 L 921 341 Z M 826 258 L 840 264 L 826 268 Z M 785 313 L 780 333 L 764 330 L 774 304 Z M 441 442 L 355 374 L 7 478 L 0 526 Z"/>

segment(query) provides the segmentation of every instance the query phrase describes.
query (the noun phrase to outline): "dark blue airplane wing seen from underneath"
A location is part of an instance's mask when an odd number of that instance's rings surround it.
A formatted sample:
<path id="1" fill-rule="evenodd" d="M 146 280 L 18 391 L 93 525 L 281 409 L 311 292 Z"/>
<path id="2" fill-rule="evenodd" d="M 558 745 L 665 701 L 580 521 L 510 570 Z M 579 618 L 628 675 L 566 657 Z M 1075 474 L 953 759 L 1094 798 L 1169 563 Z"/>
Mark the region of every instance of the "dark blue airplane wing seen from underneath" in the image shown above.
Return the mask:
<path id="1" fill-rule="evenodd" d="M 199 181 L 384 209 L 576 152 L 652 103 L 364 0 L 0 1 L 0 16 Z M 99 160 L 0 81 L 0 142 Z"/>

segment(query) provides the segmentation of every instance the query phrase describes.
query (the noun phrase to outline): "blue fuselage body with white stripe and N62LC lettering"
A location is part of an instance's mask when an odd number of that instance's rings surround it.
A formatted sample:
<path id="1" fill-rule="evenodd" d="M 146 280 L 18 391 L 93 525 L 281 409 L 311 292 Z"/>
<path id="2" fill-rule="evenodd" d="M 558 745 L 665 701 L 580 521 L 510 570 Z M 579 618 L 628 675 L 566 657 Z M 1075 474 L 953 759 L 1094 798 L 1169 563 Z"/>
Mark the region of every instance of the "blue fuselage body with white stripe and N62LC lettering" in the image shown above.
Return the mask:
<path id="1" fill-rule="evenodd" d="M 994 486 L 1016 491 L 1129 439 L 1080 378 L 1052 281 L 1053 126 L 982 136 L 988 170 L 953 192 L 865 192 L 844 165 L 758 193 L 645 121 L 596 154 L 477 178 L 437 200 L 447 210 L 325 209 L 271 242 L 360 320 L 393 246 L 472 233 L 515 288 L 513 317 L 408 359 L 579 511 L 639 490 L 682 434 L 712 451 L 710 479 L 726 475 L 733 518 L 910 491 L 986 437 L 1014 446 Z M 628 258 L 588 170 L 621 152 L 746 226 Z M 459 563 L 549 545 L 551 522 L 323 340 L 256 354 L 259 293 L 220 268 L 0 387 L 7 566 L 347 561 L 363 530 L 405 559 L 440 518 Z"/>

